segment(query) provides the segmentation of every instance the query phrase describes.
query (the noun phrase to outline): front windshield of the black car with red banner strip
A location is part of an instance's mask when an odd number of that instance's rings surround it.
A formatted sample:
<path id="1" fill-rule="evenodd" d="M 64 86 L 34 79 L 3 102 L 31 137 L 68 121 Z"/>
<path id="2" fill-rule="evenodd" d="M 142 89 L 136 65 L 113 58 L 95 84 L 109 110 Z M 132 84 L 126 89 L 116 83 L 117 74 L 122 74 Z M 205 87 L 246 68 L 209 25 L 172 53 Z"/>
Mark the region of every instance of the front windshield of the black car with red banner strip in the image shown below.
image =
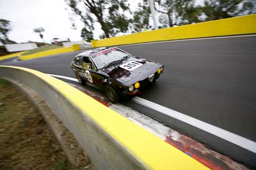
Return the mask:
<path id="1" fill-rule="evenodd" d="M 111 63 L 113 63 L 113 62 L 122 60 L 125 57 L 129 57 L 129 56 L 130 56 L 129 53 L 126 53 L 123 50 L 120 50 L 118 48 L 108 48 L 106 50 L 103 50 L 103 51 L 100 51 L 97 53 L 93 53 L 91 55 L 94 63 L 98 67 L 98 69 L 100 69 L 104 66 L 111 65 Z"/>

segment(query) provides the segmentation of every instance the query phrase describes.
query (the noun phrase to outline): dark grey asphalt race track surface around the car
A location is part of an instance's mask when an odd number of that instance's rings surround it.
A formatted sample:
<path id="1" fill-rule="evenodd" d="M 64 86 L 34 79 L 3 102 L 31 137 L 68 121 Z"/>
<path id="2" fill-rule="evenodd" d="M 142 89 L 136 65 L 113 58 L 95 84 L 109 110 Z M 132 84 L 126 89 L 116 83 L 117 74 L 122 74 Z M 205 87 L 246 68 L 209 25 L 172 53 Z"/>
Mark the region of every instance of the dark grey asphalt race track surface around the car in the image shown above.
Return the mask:
<path id="1" fill-rule="evenodd" d="M 120 46 L 164 64 L 164 73 L 141 98 L 256 141 L 256 36 L 166 41 Z M 75 78 L 70 62 L 80 52 L 0 65 L 22 66 Z M 86 87 L 85 87 L 86 88 Z M 97 89 L 95 89 L 97 91 Z M 132 101 L 125 103 L 164 124 L 256 168 L 256 154 Z"/>

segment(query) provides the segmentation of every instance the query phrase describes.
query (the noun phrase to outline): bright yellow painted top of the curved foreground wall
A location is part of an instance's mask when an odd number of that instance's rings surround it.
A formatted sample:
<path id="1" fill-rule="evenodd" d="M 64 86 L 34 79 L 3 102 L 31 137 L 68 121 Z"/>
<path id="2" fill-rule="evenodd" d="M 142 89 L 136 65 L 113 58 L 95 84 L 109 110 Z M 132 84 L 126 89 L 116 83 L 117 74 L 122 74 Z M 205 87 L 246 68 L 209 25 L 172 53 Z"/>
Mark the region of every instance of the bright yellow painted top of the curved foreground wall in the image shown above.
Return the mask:
<path id="1" fill-rule="evenodd" d="M 1 67 L 27 71 L 49 83 L 148 169 L 208 169 L 177 148 L 61 80 L 32 69 L 15 66 Z"/>

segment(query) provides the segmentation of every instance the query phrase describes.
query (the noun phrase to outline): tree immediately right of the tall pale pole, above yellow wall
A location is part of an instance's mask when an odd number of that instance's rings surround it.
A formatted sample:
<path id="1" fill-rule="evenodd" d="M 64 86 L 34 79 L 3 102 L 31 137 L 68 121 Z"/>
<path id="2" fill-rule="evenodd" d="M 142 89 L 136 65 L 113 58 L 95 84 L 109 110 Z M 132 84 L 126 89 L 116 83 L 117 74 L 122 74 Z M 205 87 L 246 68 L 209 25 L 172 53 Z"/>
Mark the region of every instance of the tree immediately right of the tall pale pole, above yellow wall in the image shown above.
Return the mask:
<path id="1" fill-rule="evenodd" d="M 159 22 L 163 27 L 200 22 L 200 10 L 195 7 L 195 0 L 157 0 L 156 3 L 155 9 L 161 13 Z"/>

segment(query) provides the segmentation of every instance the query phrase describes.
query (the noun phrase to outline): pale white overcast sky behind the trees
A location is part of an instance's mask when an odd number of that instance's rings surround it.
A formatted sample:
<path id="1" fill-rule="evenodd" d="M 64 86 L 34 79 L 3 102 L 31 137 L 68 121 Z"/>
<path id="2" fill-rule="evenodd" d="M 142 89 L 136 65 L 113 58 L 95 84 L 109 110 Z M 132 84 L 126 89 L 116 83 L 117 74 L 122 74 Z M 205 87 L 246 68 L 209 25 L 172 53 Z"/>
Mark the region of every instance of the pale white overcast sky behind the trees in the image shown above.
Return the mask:
<path id="1" fill-rule="evenodd" d="M 202 0 L 197 0 L 198 2 Z M 129 0 L 130 8 L 135 10 L 138 1 Z M 50 43 L 52 38 L 70 38 L 71 41 L 81 40 L 83 22 L 76 19 L 77 29 L 71 29 L 70 11 L 64 0 L 0 0 L 0 18 L 10 20 L 12 31 L 9 39 L 17 43 L 28 41 L 42 42 L 40 36 L 33 32 L 36 27 L 43 27 L 44 41 Z M 100 24 L 96 23 L 94 39 L 103 33 Z"/>

